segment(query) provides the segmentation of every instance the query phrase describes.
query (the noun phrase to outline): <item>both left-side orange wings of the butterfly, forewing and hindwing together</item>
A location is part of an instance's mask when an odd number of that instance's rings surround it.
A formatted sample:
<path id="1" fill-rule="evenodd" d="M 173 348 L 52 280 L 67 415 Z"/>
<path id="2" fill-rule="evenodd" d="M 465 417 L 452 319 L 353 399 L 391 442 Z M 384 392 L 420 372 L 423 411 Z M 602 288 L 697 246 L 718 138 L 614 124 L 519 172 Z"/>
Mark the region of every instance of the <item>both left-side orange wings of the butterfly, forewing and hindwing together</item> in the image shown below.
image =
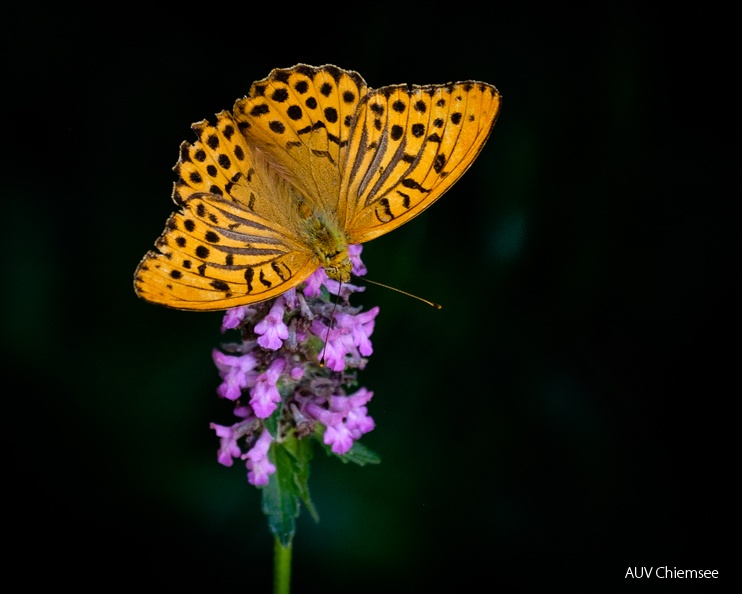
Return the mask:
<path id="1" fill-rule="evenodd" d="M 181 309 L 217 310 L 275 297 L 317 267 L 295 241 L 289 196 L 248 149 L 228 112 L 193 125 L 173 199 L 182 207 L 135 274 L 137 293 Z M 273 181 L 274 183 L 270 183 Z"/>

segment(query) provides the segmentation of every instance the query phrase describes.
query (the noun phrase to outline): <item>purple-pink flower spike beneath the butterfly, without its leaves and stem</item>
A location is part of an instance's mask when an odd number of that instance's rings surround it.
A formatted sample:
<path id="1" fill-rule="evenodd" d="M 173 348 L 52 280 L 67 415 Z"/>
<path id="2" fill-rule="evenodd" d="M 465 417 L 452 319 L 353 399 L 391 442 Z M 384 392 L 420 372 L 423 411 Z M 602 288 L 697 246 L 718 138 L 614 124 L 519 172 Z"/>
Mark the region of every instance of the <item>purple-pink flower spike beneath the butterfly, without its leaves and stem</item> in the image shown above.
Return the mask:
<path id="1" fill-rule="evenodd" d="M 365 274 L 361 247 L 348 246 L 348 254 L 353 274 Z M 373 392 L 361 388 L 346 395 L 373 353 L 370 337 L 379 313 L 378 307 L 351 306 L 350 297 L 360 290 L 318 268 L 273 300 L 225 314 L 222 331 L 239 330 L 239 338 L 213 358 L 222 378 L 217 391 L 234 401 L 237 419 L 231 427 L 211 425 L 220 440 L 219 463 L 231 466 L 241 458 L 248 481 L 266 485 L 276 472 L 268 459 L 271 447 L 294 447 L 288 444 L 313 439 L 319 430 L 324 443 L 343 455 L 374 428 L 367 409 Z M 337 298 L 328 299 L 328 292 Z M 273 446 L 268 427 L 280 436 Z"/>

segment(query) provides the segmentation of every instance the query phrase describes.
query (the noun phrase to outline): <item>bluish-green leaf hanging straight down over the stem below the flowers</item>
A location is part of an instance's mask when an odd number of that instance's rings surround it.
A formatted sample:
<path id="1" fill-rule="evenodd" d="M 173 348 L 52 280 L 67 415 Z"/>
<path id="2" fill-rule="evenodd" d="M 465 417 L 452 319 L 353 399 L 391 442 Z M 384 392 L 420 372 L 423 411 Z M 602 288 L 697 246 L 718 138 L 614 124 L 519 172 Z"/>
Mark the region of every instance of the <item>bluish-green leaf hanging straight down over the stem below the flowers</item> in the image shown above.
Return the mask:
<path id="1" fill-rule="evenodd" d="M 274 442 L 268 452 L 276 472 L 270 475 L 263 487 L 263 512 L 268 516 L 268 526 L 284 547 L 291 545 L 296 533 L 299 515 L 299 488 L 294 478 L 292 456 L 279 443 Z"/>

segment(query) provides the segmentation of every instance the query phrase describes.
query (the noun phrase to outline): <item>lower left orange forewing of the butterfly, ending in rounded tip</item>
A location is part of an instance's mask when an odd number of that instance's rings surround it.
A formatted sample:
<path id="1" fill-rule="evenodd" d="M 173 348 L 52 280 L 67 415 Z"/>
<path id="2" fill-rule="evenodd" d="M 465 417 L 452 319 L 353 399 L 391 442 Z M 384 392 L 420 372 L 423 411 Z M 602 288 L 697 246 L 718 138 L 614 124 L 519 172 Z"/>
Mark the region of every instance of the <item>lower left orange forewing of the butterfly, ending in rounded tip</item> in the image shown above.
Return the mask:
<path id="1" fill-rule="evenodd" d="M 214 194 L 194 194 L 170 217 L 137 271 L 139 293 L 182 309 L 216 310 L 276 297 L 317 265 L 273 229 Z M 157 290 L 154 290 L 157 287 Z"/>

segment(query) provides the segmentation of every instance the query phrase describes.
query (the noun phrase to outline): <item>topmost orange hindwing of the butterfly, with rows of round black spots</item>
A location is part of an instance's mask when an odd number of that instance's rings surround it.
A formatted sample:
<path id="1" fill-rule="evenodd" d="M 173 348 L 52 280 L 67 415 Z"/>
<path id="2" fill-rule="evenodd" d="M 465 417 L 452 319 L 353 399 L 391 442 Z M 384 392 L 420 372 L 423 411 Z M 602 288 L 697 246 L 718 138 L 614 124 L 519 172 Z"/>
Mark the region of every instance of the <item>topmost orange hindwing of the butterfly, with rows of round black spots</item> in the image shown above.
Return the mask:
<path id="1" fill-rule="evenodd" d="M 337 209 L 340 169 L 353 117 L 367 91 L 336 66 L 276 69 L 235 103 L 247 142 L 313 205 Z"/>

